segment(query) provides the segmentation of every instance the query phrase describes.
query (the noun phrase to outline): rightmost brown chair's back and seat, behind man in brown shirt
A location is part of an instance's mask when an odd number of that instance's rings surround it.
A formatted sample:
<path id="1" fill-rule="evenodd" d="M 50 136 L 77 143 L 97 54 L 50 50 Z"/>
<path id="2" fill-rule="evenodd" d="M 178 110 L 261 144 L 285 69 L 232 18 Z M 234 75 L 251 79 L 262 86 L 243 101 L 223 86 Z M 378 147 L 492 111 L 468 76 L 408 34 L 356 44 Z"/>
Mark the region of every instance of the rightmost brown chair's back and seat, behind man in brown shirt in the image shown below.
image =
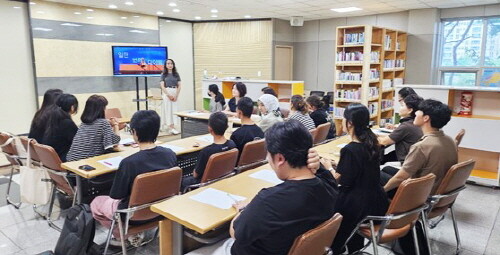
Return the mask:
<path id="1" fill-rule="evenodd" d="M 438 186 L 436 195 L 446 195 L 463 187 L 465 185 L 465 182 L 469 178 L 472 169 L 474 169 L 475 164 L 476 161 L 469 159 L 467 161 L 460 162 L 451 166 L 450 170 L 448 170 L 448 172 L 444 176 L 443 181 L 441 181 L 441 184 Z M 457 196 L 458 193 L 439 200 L 439 202 L 437 202 L 437 204 L 435 204 L 432 208 L 432 218 L 438 216 L 438 212 L 446 212 L 448 207 L 455 202 Z"/>

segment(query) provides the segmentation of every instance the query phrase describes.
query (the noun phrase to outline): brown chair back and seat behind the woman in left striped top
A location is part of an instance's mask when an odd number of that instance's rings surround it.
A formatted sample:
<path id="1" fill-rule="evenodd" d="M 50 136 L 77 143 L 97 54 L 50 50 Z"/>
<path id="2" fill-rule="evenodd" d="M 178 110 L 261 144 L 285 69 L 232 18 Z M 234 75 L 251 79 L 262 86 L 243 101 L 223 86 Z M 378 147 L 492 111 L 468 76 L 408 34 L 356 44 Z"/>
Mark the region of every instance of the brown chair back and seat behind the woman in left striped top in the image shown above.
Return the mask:
<path id="1" fill-rule="evenodd" d="M 66 172 L 66 170 L 61 167 L 62 164 L 61 158 L 59 158 L 59 155 L 57 155 L 54 148 L 39 143 L 34 143 L 33 148 L 40 157 L 40 162 L 42 162 L 42 165 L 45 168 L 48 168 L 49 170 L 53 170 L 55 172 L 62 172 L 62 173 Z M 73 195 L 73 189 L 69 185 L 66 176 L 61 174 L 56 174 L 51 171 L 49 171 L 48 173 L 50 179 L 52 179 L 54 185 L 56 185 L 58 189 L 66 192 L 66 194 L 68 195 Z"/>

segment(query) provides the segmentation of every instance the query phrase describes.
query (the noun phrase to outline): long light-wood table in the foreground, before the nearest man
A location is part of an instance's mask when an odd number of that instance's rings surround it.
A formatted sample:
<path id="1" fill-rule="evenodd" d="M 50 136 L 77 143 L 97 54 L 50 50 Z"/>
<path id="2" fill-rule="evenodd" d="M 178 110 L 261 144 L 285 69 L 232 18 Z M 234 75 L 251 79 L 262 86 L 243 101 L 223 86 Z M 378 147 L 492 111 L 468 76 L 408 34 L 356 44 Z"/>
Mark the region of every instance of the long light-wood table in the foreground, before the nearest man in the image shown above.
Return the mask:
<path id="1" fill-rule="evenodd" d="M 349 142 L 350 137 L 342 136 L 329 143 L 316 146 L 315 149 L 321 157 L 338 161 L 339 156 L 337 156 L 336 153 L 340 153 L 341 149 L 338 145 L 347 144 Z M 274 186 L 266 181 L 249 177 L 250 174 L 261 169 L 271 169 L 271 167 L 269 164 L 266 164 L 151 206 L 153 212 L 165 217 L 165 220 L 159 223 L 160 254 L 183 254 L 182 226 L 203 234 L 231 221 L 237 213 L 233 208 L 222 210 L 199 203 L 189 197 L 207 188 L 214 188 L 231 194 L 244 196 L 248 198 L 248 200 L 251 200 L 262 188 Z"/>

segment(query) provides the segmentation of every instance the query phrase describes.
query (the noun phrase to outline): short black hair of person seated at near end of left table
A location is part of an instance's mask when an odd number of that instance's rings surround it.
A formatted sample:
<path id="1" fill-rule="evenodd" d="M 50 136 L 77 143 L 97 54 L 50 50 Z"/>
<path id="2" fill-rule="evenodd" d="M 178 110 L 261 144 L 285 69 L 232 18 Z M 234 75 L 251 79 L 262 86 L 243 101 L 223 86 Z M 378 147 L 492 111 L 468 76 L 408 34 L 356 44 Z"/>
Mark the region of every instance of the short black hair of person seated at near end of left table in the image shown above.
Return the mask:
<path id="1" fill-rule="evenodd" d="M 160 116 L 151 110 L 138 111 L 130 120 L 130 129 L 135 131 L 139 142 L 154 143 L 160 132 Z"/>

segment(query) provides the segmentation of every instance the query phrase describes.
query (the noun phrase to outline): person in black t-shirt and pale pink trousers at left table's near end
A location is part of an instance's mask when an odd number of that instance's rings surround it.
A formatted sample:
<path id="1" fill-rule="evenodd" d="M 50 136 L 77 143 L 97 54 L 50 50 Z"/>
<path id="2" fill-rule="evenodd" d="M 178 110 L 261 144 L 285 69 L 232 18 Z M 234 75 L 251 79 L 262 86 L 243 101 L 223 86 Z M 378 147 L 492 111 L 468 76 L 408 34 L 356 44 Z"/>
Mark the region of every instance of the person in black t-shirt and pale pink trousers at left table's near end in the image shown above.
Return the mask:
<path id="1" fill-rule="evenodd" d="M 171 149 L 155 144 L 160 130 L 160 116 L 155 111 L 136 112 L 130 121 L 130 129 L 140 151 L 120 162 L 109 196 L 98 196 L 90 204 L 94 218 L 106 227 L 111 225 L 117 209 L 128 208 L 135 177 L 177 165 L 176 155 Z"/>

